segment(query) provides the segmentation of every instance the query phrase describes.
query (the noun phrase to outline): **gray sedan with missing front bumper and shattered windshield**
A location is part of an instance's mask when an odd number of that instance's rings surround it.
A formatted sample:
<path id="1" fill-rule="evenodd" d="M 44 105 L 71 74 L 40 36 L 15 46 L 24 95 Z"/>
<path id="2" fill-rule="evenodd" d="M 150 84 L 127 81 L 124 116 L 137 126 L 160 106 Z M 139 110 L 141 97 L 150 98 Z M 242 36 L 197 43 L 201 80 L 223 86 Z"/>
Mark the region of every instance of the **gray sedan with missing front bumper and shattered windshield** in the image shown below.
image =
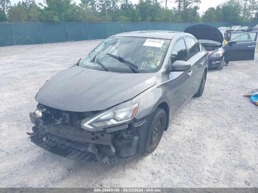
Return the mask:
<path id="1" fill-rule="evenodd" d="M 149 155 L 182 106 L 202 95 L 207 68 L 205 48 L 191 34 L 114 35 L 45 82 L 28 134 L 39 147 L 80 161 Z"/>

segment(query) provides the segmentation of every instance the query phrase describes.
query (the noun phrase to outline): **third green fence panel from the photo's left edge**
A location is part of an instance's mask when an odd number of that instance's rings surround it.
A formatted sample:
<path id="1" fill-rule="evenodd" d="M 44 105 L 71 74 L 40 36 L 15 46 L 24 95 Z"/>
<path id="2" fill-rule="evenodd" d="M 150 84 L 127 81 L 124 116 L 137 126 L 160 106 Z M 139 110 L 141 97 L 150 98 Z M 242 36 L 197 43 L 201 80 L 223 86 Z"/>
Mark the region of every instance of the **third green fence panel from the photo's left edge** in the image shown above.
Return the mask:
<path id="1" fill-rule="evenodd" d="M 65 23 L 40 23 L 44 43 L 67 41 Z"/>

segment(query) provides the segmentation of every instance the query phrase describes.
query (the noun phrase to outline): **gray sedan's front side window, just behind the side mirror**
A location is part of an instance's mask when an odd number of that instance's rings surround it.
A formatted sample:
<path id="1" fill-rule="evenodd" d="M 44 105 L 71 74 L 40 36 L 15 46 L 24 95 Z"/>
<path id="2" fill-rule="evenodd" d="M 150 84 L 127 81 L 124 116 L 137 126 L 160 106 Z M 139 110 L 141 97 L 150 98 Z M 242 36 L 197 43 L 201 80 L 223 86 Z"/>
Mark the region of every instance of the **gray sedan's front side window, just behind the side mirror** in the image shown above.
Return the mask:
<path id="1" fill-rule="evenodd" d="M 181 39 L 178 42 L 176 42 L 176 45 L 174 46 L 173 51 L 171 53 L 171 63 L 173 64 L 176 60 L 188 60 L 184 39 Z"/>

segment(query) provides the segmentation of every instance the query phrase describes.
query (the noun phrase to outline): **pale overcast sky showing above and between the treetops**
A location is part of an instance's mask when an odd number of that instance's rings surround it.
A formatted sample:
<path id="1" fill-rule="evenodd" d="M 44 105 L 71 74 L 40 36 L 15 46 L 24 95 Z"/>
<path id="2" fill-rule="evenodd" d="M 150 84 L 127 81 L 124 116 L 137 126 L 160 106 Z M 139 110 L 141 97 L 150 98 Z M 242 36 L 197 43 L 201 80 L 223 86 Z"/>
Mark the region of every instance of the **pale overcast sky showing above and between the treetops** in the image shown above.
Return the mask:
<path id="1" fill-rule="evenodd" d="M 15 3 L 17 4 L 19 2 L 19 0 L 10 0 L 11 4 L 14 5 Z M 20 0 L 22 1 L 22 0 Z M 80 0 L 74 0 L 77 4 L 80 3 Z M 158 0 L 158 2 L 161 2 L 162 0 Z M 226 0 L 201 0 L 201 4 L 200 9 L 199 9 L 199 13 L 202 14 L 206 9 L 208 9 L 209 7 L 216 7 L 217 5 L 219 5 L 222 2 L 225 2 Z M 35 0 L 35 2 L 38 3 L 43 3 L 43 0 Z M 138 0 L 131 0 L 131 2 L 133 2 L 133 4 L 136 4 L 138 2 Z M 169 9 L 172 9 L 173 7 L 176 7 L 176 4 L 173 3 L 174 0 L 168 0 L 167 2 L 167 6 L 169 7 Z M 165 2 L 162 3 L 162 5 L 165 7 Z"/>

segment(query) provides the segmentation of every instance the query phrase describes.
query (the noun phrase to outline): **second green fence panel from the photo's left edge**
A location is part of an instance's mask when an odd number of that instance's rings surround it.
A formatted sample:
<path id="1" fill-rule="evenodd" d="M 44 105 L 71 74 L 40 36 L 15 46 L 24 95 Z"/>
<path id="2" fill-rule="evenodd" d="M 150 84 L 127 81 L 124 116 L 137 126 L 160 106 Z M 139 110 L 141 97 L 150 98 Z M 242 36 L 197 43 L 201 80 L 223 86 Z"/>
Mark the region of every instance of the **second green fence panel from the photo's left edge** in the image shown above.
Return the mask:
<path id="1" fill-rule="evenodd" d="M 43 44 L 39 23 L 12 23 L 16 45 Z"/>

